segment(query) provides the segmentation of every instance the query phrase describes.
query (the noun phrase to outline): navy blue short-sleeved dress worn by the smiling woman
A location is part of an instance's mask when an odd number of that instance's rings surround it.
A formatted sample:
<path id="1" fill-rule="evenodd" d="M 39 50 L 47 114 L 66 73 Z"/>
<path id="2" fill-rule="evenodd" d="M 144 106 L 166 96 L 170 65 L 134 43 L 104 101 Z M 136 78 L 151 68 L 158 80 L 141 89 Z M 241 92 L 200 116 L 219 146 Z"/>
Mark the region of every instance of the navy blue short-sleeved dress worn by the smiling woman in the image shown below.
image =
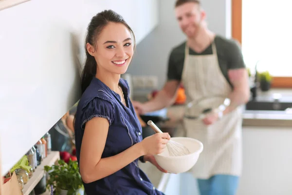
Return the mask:
<path id="1" fill-rule="evenodd" d="M 128 107 L 121 102 L 117 93 L 98 78 L 92 79 L 90 86 L 80 98 L 74 124 L 78 163 L 85 124 L 93 117 L 107 118 L 110 123 L 102 158 L 117 155 L 142 141 L 142 127 L 128 98 L 128 83 L 121 78 L 119 84 Z M 87 195 L 164 195 L 155 189 L 138 167 L 138 159 L 110 176 L 84 183 L 84 187 Z"/>

